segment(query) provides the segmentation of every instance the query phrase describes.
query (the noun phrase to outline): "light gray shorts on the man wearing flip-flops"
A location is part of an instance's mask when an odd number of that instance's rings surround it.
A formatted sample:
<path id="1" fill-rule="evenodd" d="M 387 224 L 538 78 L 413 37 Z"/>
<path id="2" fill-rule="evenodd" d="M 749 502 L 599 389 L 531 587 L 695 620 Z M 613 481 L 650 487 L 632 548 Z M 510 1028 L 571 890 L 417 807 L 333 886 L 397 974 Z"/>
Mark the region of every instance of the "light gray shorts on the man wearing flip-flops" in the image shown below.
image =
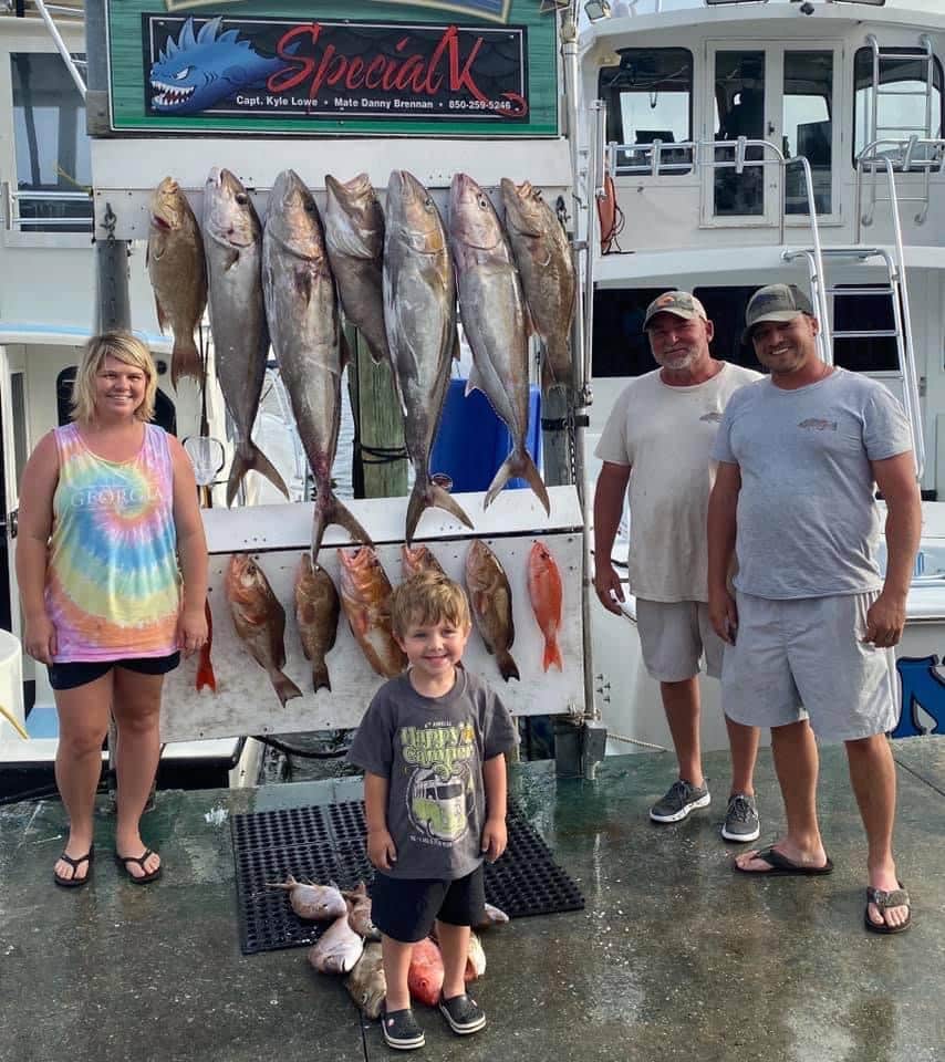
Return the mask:
<path id="1" fill-rule="evenodd" d="M 818 737 L 834 741 L 892 730 L 895 656 L 861 641 L 878 596 L 772 601 L 737 593 L 738 633 L 721 668 L 725 714 L 754 727 L 809 715 Z"/>

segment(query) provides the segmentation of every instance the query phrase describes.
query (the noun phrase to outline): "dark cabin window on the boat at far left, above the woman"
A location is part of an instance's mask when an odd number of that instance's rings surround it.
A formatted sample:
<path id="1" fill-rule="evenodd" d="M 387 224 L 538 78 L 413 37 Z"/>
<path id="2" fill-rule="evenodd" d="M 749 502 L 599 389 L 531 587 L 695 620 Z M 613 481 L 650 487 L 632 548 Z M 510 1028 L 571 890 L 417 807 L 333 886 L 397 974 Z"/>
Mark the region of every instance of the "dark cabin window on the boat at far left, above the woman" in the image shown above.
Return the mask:
<path id="1" fill-rule="evenodd" d="M 82 96 L 56 53 L 15 52 L 10 63 L 14 227 L 21 232 L 91 232 L 92 164 Z"/>

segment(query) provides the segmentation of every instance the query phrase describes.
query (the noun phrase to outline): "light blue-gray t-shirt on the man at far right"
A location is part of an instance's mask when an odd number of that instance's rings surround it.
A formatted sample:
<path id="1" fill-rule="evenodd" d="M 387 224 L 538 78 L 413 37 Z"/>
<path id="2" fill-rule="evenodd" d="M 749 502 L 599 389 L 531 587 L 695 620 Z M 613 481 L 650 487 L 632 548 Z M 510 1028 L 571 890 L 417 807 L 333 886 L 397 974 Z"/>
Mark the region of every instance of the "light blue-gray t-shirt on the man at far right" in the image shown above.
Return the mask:
<path id="1" fill-rule="evenodd" d="M 741 473 L 736 587 L 775 598 L 882 589 L 870 461 L 911 449 L 896 398 L 842 368 L 797 389 L 766 378 L 736 392 L 713 446 Z"/>

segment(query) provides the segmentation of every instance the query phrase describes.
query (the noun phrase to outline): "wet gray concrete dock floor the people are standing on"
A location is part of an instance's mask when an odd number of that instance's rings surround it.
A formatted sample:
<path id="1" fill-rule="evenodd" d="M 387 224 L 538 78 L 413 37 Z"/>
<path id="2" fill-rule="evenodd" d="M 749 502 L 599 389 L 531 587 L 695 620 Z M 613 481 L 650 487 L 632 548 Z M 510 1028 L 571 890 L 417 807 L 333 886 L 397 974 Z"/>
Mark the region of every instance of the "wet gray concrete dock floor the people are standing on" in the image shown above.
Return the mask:
<path id="1" fill-rule="evenodd" d="M 908 933 L 863 929 L 865 844 L 839 747 L 822 749 L 822 829 L 835 872 L 737 875 L 714 802 L 677 825 L 646 810 L 668 756 L 614 757 L 595 781 L 553 763 L 513 769 L 511 791 L 582 912 L 488 930 L 472 991 L 489 1019 L 460 1040 L 417 1007 L 428 1062 L 939 1062 L 945 1058 L 945 741 L 894 745 L 896 851 Z M 782 826 L 770 762 L 757 778 L 761 841 Z M 92 883 L 56 888 L 58 801 L 0 809 L 0 1059 L 364 1062 L 404 1054 L 362 1021 L 304 949 L 242 956 L 228 816 L 361 795 L 357 779 L 255 790 L 160 791 L 143 825 L 165 873 L 141 887 L 111 858 L 103 801 Z"/>

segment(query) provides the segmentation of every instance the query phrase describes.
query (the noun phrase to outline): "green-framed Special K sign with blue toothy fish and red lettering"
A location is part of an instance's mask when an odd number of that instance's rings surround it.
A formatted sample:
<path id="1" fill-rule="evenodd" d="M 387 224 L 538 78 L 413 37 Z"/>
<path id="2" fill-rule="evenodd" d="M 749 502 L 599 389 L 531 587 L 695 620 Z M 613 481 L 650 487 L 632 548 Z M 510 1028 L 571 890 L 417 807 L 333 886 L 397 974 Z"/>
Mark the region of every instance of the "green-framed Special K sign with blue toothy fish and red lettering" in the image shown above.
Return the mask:
<path id="1" fill-rule="evenodd" d="M 372 0 L 354 0 L 345 17 L 322 13 L 326 4 L 313 17 L 309 3 L 304 18 L 289 13 L 292 2 L 284 15 L 264 17 L 248 3 L 149 6 L 111 0 L 115 129 L 558 134 L 555 23 L 539 0 L 449 4 L 478 12 L 471 23 L 468 14 L 444 19 L 439 3 L 398 7 L 422 15 L 409 20 L 391 19 L 393 4 Z M 180 12 L 185 6 L 194 10 Z M 374 18 L 354 17 L 368 10 Z M 129 14 L 141 41 L 134 64 Z"/>

